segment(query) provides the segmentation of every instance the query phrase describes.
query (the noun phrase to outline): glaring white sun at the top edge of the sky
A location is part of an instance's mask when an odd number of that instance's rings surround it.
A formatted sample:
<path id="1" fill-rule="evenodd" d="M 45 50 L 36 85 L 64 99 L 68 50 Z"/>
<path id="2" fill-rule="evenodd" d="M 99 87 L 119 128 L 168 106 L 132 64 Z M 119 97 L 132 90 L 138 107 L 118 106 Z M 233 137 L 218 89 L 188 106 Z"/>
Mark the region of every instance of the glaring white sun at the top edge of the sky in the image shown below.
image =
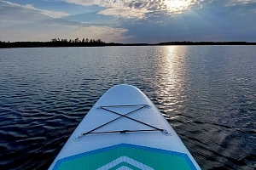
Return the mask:
<path id="1" fill-rule="evenodd" d="M 189 7 L 187 0 L 166 0 L 166 8 L 169 12 L 179 13 Z"/>

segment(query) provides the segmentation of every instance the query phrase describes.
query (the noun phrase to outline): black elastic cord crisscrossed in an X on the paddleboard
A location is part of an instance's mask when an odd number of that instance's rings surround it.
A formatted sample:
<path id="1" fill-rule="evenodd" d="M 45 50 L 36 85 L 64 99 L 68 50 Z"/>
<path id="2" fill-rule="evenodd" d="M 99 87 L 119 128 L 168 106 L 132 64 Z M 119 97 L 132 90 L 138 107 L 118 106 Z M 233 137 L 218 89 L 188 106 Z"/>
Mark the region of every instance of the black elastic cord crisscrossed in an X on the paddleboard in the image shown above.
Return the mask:
<path id="1" fill-rule="evenodd" d="M 126 113 L 125 115 L 122 115 L 122 114 L 119 114 L 118 112 L 110 111 L 110 110 L 106 109 L 106 107 L 131 107 L 131 106 L 141 106 L 141 107 L 139 107 L 138 109 L 136 109 L 136 110 L 134 110 L 134 111 L 130 111 L 130 112 Z M 102 106 L 100 107 L 101 109 L 103 109 L 103 110 L 105 110 L 105 111 L 112 112 L 112 113 L 114 113 L 114 114 L 117 114 L 117 115 L 119 115 L 119 117 L 113 119 L 112 121 L 106 122 L 106 123 L 102 124 L 101 126 L 96 127 L 96 128 L 94 128 L 94 129 L 90 130 L 90 131 L 87 132 L 87 133 L 82 133 L 82 134 L 83 134 L 83 135 L 89 134 L 89 133 L 92 134 L 93 131 L 95 131 L 96 129 L 98 129 L 98 128 L 100 128 L 100 127 L 104 127 L 105 125 L 107 125 L 107 124 L 109 124 L 109 123 L 111 123 L 111 122 L 114 122 L 114 121 L 118 120 L 118 119 L 121 118 L 121 117 L 126 117 L 126 118 L 128 118 L 128 119 L 131 119 L 132 121 L 140 122 L 140 123 L 142 123 L 142 124 L 144 124 L 144 125 L 146 125 L 146 126 L 148 126 L 148 127 L 153 127 L 153 128 L 156 129 L 156 130 L 123 130 L 123 131 L 107 131 L 107 132 L 100 132 L 100 133 L 131 133 L 131 132 L 143 132 L 143 131 L 163 131 L 163 129 L 160 129 L 160 128 L 158 128 L 158 127 L 154 127 L 154 126 L 149 125 L 149 124 L 147 124 L 147 123 L 145 123 L 145 122 L 141 122 L 141 121 L 138 121 L 138 120 L 136 120 L 136 119 L 133 119 L 133 118 L 127 116 L 127 115 L 129 115 L 129 114 L 131 114 L 131 113 L 133 113 L 133 112 L 135 112 L 135 111 L 138 111 L 138 110 L 143 109 L 143 108 L 146 107 L 146 106 L 147 106 L 147 105 L 102 105 Z M 93 134 L 96 134 L 96 133 L 93 133 Z"/>

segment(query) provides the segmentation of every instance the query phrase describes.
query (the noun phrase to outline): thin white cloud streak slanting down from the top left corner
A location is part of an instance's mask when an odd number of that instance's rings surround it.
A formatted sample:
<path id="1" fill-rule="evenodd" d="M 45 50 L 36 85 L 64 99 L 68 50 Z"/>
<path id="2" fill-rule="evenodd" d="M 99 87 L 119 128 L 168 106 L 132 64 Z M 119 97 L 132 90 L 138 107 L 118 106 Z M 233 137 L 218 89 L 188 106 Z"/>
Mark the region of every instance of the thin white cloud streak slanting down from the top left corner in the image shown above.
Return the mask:
<path id="1" fill-rule="evenodd" d="M 44 14 L 44 15 L 49 16 L 51 18 L 61 18 L 61 17 L 64 17 L 64 16 L 68 15 L 67 13 L 63 13 L 63 12 L 59 12 L 59 11 L 49 11 L 49 10 L 35 8 L 35 7 L 32 6 L 32 4 L 20 5 L 20 4 L 17 4 L 17 3 L 10 3 L 8 1 L 0 1 L 0 2 L 2 2 L 1 3 L 2 7 L 7 6 L 7 7 L 14 7 L 14 8 L 23 8 L 25 10 L 27 9 L 27 10 L 31 10 L 31 11 L 34 11 L 34 12 L 38 12 L 40 14 Z"/>

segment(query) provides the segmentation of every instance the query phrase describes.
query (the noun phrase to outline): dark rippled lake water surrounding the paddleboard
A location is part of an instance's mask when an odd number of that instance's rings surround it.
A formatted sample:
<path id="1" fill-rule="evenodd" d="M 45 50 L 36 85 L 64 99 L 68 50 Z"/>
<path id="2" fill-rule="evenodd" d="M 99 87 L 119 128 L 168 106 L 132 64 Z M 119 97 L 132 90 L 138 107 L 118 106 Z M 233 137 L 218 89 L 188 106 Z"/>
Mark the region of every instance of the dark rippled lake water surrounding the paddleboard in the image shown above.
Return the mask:
<path id="1" fill-rule="evenodd" d="M 126 83 L 202 169 L 256 168 L 255 46 L 0 49 L 0 169 L 46 169 L 90 107 Z"/>

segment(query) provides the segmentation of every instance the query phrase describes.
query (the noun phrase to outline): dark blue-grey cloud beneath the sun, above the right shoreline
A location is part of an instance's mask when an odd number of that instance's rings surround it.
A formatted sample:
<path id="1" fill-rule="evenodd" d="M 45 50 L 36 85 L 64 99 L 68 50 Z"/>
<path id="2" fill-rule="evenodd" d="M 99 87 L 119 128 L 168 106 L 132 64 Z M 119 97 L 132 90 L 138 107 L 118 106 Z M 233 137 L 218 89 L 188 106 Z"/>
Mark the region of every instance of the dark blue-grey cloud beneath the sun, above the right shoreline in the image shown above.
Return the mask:
<path id="1" fill-rule="evenodd" d="M 147 14 L 147 20 L 122 20 L 131 42 L 256 41 L 256 3 L 203 3 L 183 14 Z M 158 17 L 155 17 L 158 16 Z"/>

